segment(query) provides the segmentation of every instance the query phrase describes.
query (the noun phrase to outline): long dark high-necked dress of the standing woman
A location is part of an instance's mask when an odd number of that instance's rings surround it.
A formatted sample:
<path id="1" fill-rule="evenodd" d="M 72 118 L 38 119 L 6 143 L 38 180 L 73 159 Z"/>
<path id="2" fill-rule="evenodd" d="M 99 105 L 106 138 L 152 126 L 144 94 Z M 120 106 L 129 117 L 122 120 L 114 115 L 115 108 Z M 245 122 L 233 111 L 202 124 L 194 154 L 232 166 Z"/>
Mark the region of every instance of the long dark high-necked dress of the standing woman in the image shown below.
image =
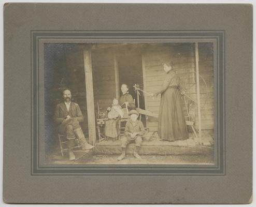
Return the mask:
<path id="1" fill-rule="evenodd" d="M 186 121 L 183 115 L 179 77 L 176 72 L 167 72 L 162 84 L 158 120 L 158 134 L 162 140 L 175 141 L 188 139 Z"/>

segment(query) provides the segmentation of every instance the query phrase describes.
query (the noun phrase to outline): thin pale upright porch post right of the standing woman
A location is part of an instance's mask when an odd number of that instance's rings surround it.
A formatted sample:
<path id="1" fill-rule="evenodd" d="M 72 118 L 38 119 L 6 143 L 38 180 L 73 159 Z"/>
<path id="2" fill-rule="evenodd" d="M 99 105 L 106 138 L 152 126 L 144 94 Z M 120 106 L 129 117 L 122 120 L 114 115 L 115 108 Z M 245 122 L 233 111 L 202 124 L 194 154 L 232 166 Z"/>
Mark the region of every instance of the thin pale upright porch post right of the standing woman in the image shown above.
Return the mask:
<path id="1" fill-rule="evenodd" d="M 196 68 L 196 94 L 197 94 L 198 131 L 199 131 L 199 141 L 200 141 L 200 144 L 202 144 L 198 42 L 195 42 L 195 68 Z"/>

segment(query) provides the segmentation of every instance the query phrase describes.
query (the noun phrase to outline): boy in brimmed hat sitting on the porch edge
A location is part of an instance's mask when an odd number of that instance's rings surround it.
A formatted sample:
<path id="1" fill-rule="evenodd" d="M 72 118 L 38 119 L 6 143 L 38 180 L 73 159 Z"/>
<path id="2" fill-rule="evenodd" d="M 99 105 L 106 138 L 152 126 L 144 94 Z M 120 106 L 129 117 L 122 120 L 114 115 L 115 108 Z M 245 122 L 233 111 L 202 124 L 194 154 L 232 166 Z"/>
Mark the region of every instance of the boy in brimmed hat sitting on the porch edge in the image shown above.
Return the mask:
<path id="1" fill-rule="evenodd" d="M 131 110 L 129 112 L 130 120 L 126 122 L 124 135 L 125 137 L 121 139 L 122 154 L 117 158 L 119 161 L 125 157 L 126 145 L 135 142 L 135 148 L 133 155 L 136 158 L 140 158 L 138 155 L 139 147 L 142 142 L 141 136 L 145 135 L 145 128 L 143 123 L 137 120 L 139 113 L 136 110 Z"/>

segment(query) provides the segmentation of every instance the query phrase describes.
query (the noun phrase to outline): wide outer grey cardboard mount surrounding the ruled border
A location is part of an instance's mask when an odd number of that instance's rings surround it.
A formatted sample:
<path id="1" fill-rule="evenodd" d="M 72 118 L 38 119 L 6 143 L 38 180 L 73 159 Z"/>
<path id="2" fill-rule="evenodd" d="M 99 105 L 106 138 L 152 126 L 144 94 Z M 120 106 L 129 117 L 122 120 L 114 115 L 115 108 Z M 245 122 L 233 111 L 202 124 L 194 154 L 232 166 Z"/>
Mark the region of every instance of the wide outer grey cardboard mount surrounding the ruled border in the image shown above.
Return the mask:
<path id="1" fill-rule="evenodd" d="M 161 176 L 36 173 L 39 171 L 35 170 L 38 166 L 34 166 L 37 162 L 33 155 L 38 149 L 33 138 L 37 135 L 32 121 L 37 120 L 32 104 L 37 93 L 33 88 L 38 86 L 33 79 L 32 40 L 38 31 L 73 34 L 222 31 L 224 67 L 219 75 L 224 79 L 217 83 L 224 89 L 222 99 L 218 99 L 224 105 L 219 115 L 225 117 L 224 173 Z M 43 111 L 40 113 L 44 115 Z M 5 4 L 3 200 L 7 203 L 250 203 L 252 5 Z"/>

